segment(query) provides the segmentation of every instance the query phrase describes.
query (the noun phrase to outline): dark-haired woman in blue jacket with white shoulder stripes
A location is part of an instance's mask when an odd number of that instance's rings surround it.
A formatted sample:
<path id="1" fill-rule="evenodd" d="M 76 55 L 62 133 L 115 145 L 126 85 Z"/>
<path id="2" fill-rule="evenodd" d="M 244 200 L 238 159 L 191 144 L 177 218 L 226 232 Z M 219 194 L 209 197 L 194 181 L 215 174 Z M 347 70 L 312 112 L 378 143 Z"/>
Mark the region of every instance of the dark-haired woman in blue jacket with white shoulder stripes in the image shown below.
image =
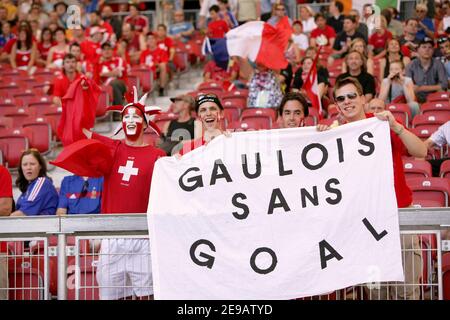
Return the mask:
<path id="1" fill-rule="evenodd" d="M 20 157 L 16 186 L 22 192 L 13 217 L 54 215 L 58 193 L 47 176 L 47 163 L 36 149 L 28 149 Z"/>

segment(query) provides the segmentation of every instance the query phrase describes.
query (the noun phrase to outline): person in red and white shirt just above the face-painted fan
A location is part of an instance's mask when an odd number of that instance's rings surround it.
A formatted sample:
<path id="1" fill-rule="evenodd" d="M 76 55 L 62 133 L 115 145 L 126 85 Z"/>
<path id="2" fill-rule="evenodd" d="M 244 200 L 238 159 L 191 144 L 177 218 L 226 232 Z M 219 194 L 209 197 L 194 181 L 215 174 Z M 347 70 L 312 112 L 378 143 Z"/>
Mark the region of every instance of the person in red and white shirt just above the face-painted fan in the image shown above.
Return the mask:
<path id="1" fill-rule="evenodd" d="M 102 56 L 97 66 L 97 79 L 100 85 L 110 85 L 113 90 L 113 105 L 123 104 L 124 94 L 127 91 L 127 65 L 126 62 L 114 56 L 111 44 L 102 44 Z"/>

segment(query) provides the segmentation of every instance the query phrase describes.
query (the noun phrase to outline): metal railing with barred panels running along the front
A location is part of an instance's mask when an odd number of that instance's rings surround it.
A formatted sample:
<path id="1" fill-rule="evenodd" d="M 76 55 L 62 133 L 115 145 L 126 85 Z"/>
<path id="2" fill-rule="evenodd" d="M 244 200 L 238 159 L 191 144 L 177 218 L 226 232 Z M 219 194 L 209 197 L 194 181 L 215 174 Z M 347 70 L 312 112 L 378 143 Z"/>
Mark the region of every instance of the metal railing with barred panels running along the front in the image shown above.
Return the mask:
<path id="1" fill-rule="evenodd" d="M 399 223 L 402 237 L 411 234 L 420 238 L 418 250 L 423 256 L 421 261 L 425 271 L 420 272 L 420 283 L 383 283 L 382 286 L 388 295 L 389 292 L 407 290 L 411 285 L 418 287 L 418 296 L 413 295 L 415 299 L 442 299 L 441 255 L 443 251 L 450 250 L 450 245 L 449 241 L 441 243 L 440 234 L 442 230 L 450 230 L 450 208 L 400 209 Z M 13 287 L 7 288 L 9 298 L 49 299 L 52 296 L 49 292 L 53 291 L 54 297 L 66 300 L 69 290 L 71 299 L 97 299 L 101 289 L 95 275 L 98 259 L 102 255 L 98 250 L 99 240 L 142 239 L 147 236 L 147 217 L 142 214 L 2 217 L 0 241 L 8 242 L 10 248 L 20 248 L 6 256 L 8 266 L 15 263 L 20 267 L 13 268 L 12 279 L 10 274 L 9 283 L 13 283 Z M 436 242 L 434 245 L 433 241 Z M 415 250 L 405 245 L 402 248 L 404 255 L 408 250 Z M 2 257 L 5 256 L 0 256 L 0 259 Z M 409 268 L 407 262 L 404 265 Z M 0 284 L 0 289 L 5 288 L 1 288 Z M 380 297 L 380 293 L 360 285 L 337 291 L 332 296 L 332 299 L 371 299 Z M 402 295 L 392 297 L 391 294 L 390 298 L 399 297 L 402 298 Z"/>

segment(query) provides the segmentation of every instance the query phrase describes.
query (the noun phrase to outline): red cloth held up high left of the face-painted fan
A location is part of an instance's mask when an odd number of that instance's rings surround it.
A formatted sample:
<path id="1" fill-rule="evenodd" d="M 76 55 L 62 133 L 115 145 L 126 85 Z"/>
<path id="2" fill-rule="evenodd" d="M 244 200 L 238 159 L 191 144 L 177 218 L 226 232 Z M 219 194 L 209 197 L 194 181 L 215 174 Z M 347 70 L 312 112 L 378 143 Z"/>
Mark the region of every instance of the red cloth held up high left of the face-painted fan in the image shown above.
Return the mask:
<path id="1" fill-rule="evenodd" d="M 83 80 L 88 85 L 87 90 L 81 87 Z M 100 88 L 92 80 L 81 77 L 72 82 L 62 98 L 63 111 L 58 125 L 58 136 L 64 146 L 86 138 L 82 129 L 94 126 L 99 95 Z"/>

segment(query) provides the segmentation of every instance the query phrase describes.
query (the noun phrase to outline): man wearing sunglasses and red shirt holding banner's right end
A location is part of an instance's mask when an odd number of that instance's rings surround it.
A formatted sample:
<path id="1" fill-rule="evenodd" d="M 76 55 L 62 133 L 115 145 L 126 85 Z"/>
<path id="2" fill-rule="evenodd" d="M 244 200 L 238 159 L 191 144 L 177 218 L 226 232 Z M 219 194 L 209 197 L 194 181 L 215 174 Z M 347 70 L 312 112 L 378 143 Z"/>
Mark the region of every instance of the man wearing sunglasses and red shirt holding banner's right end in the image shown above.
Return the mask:
<path id="1" fill-rule="evenodd" d="M 390 111 L 382 111 L 375 114 L 366 114 L 364 105 L 366 99 L 363 95 L 361 84 L 355 78 L 347 77 L 338 79 L 334 86 L 333 97 L 336 101 L 340 115 L 345 122 L 351 123 L 376 116 L 378 119 L 389 122 L 391 129 L 391 148 L 392 160 L 394 166 L 394 187 L 399 208 L 406 208 L 412 204 L 412 193 L 406 184 L 405 173 L 403 170 L 402 155 L 405 148 L 407 152 L 417 158 L 424 158 L 427 155 L 425 144 L 398 123 Z M 328 130 L 329 127 L 319 125 L 319 131 Z M 397 294 L 397 297 L 404 299 L 419 299 L 420 297 L 420 277 L 422 274 L 422 258 L 420 253 L 419 240 L 416 235 L 402 235 L 402 248 L 405 250 L 403 256 L 404 263 L 408 264 L 405 269 L 405 287 L 399 290 L 391 288 L 391 292 Z M 415 286 L 412 284 L 416 284 Z M 375 290 L 374 290 L 375 291 Z M 378 293 L 372 292 L 370 296 L 377 299 L 387 299 L 389 291 L 385 289 Z"/>

